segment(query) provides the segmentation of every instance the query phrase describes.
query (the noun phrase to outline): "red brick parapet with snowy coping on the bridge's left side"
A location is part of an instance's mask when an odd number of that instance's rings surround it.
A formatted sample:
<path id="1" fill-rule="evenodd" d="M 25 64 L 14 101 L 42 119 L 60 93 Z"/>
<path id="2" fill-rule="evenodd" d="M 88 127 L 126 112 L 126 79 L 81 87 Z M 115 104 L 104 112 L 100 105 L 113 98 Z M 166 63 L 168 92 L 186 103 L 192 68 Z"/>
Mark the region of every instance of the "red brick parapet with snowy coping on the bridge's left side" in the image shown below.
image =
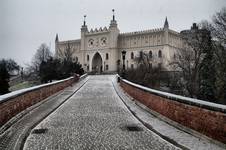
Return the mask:
<path id="1" fill-rule="evenodd" d="M 80 78 L 83 77 L 84 76 L 81 76 Z M 54 93 L 71 86 L 78 80 L 79 77 L 74 76 L 64 80 L 42 84 L 0 96 L 0 127 L 18 113 L 44 100 Z"/>

